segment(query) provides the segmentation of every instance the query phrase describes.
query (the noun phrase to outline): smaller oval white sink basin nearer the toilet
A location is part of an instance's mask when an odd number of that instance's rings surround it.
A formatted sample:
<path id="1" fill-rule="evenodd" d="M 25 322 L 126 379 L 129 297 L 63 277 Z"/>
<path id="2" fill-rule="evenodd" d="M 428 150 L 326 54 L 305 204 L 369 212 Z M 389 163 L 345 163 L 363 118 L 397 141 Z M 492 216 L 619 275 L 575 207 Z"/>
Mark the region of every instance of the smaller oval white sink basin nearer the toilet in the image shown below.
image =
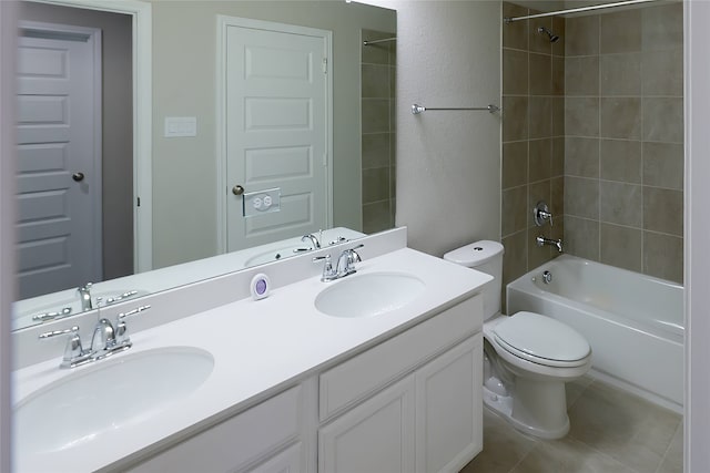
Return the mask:
<path id="1" fill-rule="evenodd" d="M 315 307 L 332 317 L 372 317 L 406 306 L 424 287 L 420 279 L 399 273 L 346 276 L 322 290 Z"/>

